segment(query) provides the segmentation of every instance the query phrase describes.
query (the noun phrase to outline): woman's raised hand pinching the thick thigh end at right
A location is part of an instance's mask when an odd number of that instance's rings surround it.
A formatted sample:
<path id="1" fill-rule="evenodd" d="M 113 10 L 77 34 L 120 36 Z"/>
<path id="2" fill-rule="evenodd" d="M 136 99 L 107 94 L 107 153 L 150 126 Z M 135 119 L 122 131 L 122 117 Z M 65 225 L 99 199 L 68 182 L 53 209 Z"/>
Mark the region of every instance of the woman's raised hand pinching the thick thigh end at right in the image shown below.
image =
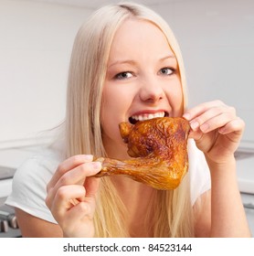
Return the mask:
<path id="1" fill-rule="evenodd" d="M 238 148 L 245 123 L 237 116 L 236 110 L 222 101 L 209 101 L 185 112 L 189 121 L 189 138 L 204 152 L 210 161 L 225 163 Z"/>

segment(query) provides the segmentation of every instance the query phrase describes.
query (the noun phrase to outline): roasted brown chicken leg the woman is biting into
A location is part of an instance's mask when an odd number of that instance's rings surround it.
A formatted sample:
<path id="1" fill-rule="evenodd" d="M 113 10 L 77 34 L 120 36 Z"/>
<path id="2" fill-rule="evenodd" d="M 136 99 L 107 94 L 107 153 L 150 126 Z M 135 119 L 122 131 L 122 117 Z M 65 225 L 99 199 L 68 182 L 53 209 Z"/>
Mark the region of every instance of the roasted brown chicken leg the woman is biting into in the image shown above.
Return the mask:
<path id="1" fill-rule="evenodd" d="M 188 168 L 189 129 L 183 118 L 120 123 L 128 154 L 134 158 L 121 161 L 101 157 L 102 169 L 97 176 L 125 175 L 156 189 L 175 189 Z"/>

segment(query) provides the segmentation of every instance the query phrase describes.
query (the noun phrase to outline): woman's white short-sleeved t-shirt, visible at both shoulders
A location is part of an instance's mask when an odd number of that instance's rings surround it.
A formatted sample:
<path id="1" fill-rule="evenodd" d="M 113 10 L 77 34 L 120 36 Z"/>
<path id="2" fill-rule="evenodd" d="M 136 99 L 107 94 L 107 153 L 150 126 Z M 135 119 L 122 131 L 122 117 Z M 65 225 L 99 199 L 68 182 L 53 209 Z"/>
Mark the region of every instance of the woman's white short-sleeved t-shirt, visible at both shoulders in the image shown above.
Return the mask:
<path id="1" fill-rule="evenodd" d="M 210 189 L 210 173 L 205 156 L 196 148 L 193 140 L 188 141 L 188 155 L 191 201 L 194 205 L 196 199 Z M 45 204 L 45 198 L 48 181 L 60 162 L 60 156 L 52 149 L 28 159 L 16 170 L 12 193 L 5 204 L 20 208 L 39 219 L 57 223 Z"/>

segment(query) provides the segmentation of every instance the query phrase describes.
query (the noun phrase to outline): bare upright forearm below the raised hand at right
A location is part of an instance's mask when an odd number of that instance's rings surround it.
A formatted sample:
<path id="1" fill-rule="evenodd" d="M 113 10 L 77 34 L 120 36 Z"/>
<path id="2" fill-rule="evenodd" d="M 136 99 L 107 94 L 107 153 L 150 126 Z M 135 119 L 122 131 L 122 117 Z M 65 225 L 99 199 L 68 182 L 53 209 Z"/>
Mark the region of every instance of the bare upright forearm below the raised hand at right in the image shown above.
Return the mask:
<path id="1" fill-rule="evenodd" d="M 249 237 L 249 226 L 238 191 L 235 158 L 211 170 L 211 237 Z"/>

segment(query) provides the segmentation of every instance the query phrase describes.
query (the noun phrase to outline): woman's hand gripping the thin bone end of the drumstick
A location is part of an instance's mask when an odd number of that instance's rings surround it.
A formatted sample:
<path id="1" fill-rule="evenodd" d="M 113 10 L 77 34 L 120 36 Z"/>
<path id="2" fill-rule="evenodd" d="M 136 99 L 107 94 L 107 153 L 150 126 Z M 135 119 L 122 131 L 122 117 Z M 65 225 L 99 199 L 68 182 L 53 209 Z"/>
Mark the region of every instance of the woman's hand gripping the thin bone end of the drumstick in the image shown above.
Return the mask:
<path id="1" fill-rule="evenodd" d="M 92 155 L 74 155 L 58 165 L 47 186 L 46 204 L 65 237 L 93 237 L 93 216 L 100 162 Z"/>

